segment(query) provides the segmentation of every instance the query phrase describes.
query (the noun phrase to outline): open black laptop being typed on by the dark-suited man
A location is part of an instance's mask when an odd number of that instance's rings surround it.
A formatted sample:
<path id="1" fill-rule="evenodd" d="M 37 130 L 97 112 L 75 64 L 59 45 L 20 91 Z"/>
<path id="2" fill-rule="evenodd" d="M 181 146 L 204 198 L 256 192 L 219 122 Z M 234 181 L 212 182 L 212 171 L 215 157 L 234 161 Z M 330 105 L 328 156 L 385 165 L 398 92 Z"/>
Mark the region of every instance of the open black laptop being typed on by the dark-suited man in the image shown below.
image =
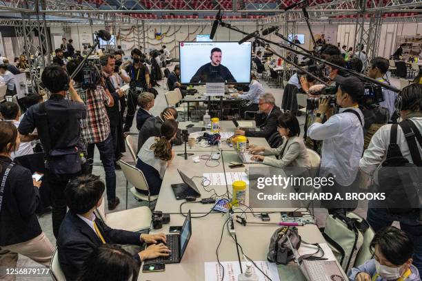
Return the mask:
<path id="1" fill-rule="evenodd" d="M 188 242 L 192 236 L 192 219 L 190 218 L 190 210 L 188 216 L 186 216 L 185 222 L 181 227 L 180 233 L 177 234 L 166 234 L 167 247 L 172 251 L 168 257 L 159 257 L 154 260 L 148 260 L 148 263 L 179 263 L 183 258 Z"/>

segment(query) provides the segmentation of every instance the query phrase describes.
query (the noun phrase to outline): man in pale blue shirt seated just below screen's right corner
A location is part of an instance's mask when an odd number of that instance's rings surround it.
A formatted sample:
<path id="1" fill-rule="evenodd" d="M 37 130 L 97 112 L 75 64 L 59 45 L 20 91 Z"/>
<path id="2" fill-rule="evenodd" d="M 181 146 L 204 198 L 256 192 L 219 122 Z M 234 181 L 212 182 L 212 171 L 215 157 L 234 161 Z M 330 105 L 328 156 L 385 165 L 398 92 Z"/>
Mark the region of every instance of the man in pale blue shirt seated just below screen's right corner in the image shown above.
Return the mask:
<path id="1" fill-rule="evenodd" d="M 239 91 L 239 94 L 232 94 L 234 97 L 239 97 L 244 100 L 244 103 L 241 105 L 241 117 L 245 116 L 245 112 L 257 112 L 259 110 L 259 96 L 264 94 L 265 91 L 261 83 L 257 79 L 257 75 L 253 72 L 250 73 L 250 84 L 249 91 L 243 93 Z M 252 118 L 247 115 L 246 119 Z"/>

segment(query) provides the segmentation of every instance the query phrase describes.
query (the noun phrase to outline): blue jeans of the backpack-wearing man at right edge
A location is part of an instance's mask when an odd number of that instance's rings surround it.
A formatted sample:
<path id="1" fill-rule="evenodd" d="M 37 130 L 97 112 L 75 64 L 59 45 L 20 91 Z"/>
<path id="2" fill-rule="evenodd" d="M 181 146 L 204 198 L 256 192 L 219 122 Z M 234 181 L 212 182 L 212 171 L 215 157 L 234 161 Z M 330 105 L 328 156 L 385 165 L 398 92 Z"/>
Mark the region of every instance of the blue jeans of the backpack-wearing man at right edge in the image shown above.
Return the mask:
<path id="1" fill-rule="evenodd" d="M 368 209 L 366 220 L 368 220 L 374 231 L 379 231 L 383 227 L 392 225 L 394 221 L 400 222 L 400 229 L 407 232 L 414 243 L 413 264 L 418 268 L 419 274 L 422 274 L 422 225 L 417 221 L 419 213 L 393 215 L 387 209 Z"/>

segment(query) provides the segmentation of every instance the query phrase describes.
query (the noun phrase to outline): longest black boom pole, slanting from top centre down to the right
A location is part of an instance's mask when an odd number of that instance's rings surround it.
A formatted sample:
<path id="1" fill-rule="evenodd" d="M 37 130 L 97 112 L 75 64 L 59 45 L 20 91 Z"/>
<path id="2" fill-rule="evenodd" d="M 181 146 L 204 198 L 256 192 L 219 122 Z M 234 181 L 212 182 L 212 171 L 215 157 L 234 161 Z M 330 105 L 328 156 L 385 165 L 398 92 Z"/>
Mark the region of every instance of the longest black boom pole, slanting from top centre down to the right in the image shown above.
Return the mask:
<path id="1" fill-rule="evenodd" d="M 223 26 L 224 28 L 228 28 L 228 29 L 230 29 L 230 30 L 237 31 L 237 32 L 240 32 L 241 34 L 245 34 L 245 35 L 248 35 L 248 34 L 249 34 L 249 33 L 247 33 L 247 32 L 244 32 L 244 31 L 242 31 L 242 30 L 239 30 L 239 28 L 236 28 L 236 27 L 232 26 L 230 23 L 224 23 L 224 22 L 223 22 L 223 21 L 221 21 L 221 20 L 219 21 L 219 23 L 220 23 L 220 25 L 221 25 L 221 26 Z M 302 56 L 305 56 L 305 57 L 307 57 L 307 58 L 313 59 L 314 61 L 319 61 L 320 63 L 325 63 L 325 65 L 330 65 L 331 67 L 334 67 L 334 68 L 336 68 L 337 70 L 342 70 L 343 72 L 347 72 L 347 73 L 351 74 L 352 76 L 356 76 L 356 77 L 358 77 L 359 79 L 361 79 L 361 80 L 363 80 L 363 81 L 367 81 L 367 82 L 370 82 L 370 83 L 372 83 L 372 84 L 379 85 L 379 86 L 381 86 L 381 87 L 383 87 L 383 88 L 385 88 L 385 89 L 392 90 L 393 92 L 400 92 L 400 90 L 399 90 L 399 89 L 396 89 L 395 87 L 392 87 L 391 85 L 384 84 L 384 83 L 382 83 L 382 82 L 379 82 L 379 81 L 377 81 L 377 80 L 375 80 L 375 79 L 372 79 L 372 78 L 370 78 L 370 77 L 368 77 L 368 76 L 365 76 L 365 75 L 363 75 L 363 74 L 361 74 L 361 73 L 358 73 L 358 72 L 355 72 L 355 71 L 353 71 L 353 70 L 348 70 L 347 68 L 342 67 L 342 66 L 340 66 L 340 65 L 336 65 L 335 63 L 330 63 L 330 62 L 328 62 L 328 61 L 325 61 L 325 59 L 321 59 L 319 56 L 314 56 L 314 55 L 311 55 L 311 54 L 307 54 L 307 53 L 305 53 L 305 52 L 301 52 L 301 51 L 298 51 L 298 50 L 294 50 L 294 48 L 290 48 L 290 47 L 288 47 L 288 46 L 286 46 L 286 45 L 283 45 L 283 44 L 280 44 L 280 43 L 277 43 L 277 42 L 274 42 L 274 41 L 271 41 L 271 40 L 265 39 L 265 38 L 263 38 L 263 37 L 259 37 L 259 36 L 254 35 L 254 34 L 251 34 L 251 35 L 252 35 L 252 37 L 257 38 L 257 39 L 259 39 L 259 40 L 261 40 L 261 41 L 264 41 L 264 42 L 266 42 L 266 43 L 270 43 L 270 44 L 277 45 L 277 46 L 279 46 L 280 48 L 283 48 L 283 49 L 285 49 L 285 50 L 289 50 L 290 52 L 294 52 L 295 54 L 301 54 Z M 288 61 L 288 60 L 286 60 L 286 61 Z"/>

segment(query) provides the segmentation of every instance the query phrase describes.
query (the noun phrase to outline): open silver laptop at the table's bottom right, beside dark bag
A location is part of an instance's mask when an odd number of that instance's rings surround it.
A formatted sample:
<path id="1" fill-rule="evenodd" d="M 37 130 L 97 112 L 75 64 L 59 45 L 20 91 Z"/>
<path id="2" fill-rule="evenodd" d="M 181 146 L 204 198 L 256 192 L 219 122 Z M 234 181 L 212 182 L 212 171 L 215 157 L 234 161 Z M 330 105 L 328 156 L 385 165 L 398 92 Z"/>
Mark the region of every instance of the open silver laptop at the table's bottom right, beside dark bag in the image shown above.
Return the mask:
<path id="1" fill-rule="evenodd" d="M 289 247 L 293 251 L 294 260 L 299 265 L 306 280 L 309 281 L 345 281 L 339 265 L 333 260 L 303 260 L 288 236 Z"/>

